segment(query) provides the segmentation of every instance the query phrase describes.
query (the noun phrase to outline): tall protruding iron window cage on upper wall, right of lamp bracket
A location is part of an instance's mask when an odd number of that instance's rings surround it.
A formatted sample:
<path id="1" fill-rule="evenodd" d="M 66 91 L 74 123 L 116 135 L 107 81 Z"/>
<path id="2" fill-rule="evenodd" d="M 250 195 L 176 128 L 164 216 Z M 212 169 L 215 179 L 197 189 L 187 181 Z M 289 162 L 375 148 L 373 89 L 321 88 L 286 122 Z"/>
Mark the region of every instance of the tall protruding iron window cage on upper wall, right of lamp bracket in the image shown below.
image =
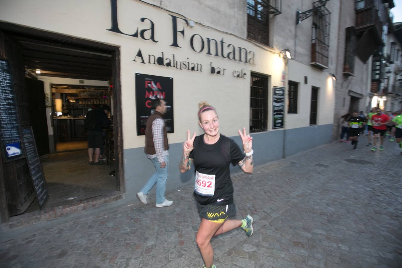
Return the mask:
<path id="1" fill-rule="evenodd" d="M 313 3 L 317 8 L 313 16 L 311 63 L 320 69 L 328 69 L 331 12 L 320 5 L 321 1 Z"/>

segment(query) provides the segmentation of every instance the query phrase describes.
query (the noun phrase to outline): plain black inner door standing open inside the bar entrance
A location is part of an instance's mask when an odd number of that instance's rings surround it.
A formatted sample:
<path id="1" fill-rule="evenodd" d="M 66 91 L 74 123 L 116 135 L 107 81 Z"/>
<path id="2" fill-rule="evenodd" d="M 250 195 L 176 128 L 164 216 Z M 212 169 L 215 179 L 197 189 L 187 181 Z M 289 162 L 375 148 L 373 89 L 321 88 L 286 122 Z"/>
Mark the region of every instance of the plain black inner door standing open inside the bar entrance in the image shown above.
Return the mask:
<path id="1" fill-rule="evenodd" d="M 49 133 L 47 132 L 46 103 L 43 81 L 25 78 L 29 119 L 39 156 L 49 153 Z"/>

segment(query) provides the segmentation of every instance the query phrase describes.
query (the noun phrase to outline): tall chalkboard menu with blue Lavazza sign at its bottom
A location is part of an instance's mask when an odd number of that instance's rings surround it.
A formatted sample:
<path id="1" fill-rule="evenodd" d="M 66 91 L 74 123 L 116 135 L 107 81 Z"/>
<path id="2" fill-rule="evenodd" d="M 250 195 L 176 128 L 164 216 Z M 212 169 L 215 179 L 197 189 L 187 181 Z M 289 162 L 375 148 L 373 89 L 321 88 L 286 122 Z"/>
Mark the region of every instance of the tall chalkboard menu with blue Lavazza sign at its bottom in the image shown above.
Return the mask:
<path id="1" fill-rule="evenodd" d="M 0 140 L 4 162 L 24 158 L 10 64 L 0 59 Z"/>

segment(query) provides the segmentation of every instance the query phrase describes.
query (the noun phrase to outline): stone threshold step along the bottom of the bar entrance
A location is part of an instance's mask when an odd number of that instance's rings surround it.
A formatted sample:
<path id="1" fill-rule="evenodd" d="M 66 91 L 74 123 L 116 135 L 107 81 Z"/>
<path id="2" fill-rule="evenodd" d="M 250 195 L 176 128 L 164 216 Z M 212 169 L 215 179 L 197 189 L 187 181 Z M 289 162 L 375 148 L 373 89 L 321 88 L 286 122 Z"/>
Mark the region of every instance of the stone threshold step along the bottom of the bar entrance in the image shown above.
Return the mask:
<path id="1" fill-rule="evenodd" d="M 10 218 L 9 222 L 2 223 L 0 225 L 0 231 L 8 231 L 20 227 L 33 225 L 43 221 L 57 219 L 65 215 L 70 215 L 87 209 L 96 208 L 103 204 L 111 203 L 121 199 L 123 199 L 123 194 L 104 194 L 101 196 L 86 198 L 84 200 L 78 201 L 77 203 L 72 203 L 69 205 L 62 205 L 59 207 L 53 207 L 13 216 Z"/>

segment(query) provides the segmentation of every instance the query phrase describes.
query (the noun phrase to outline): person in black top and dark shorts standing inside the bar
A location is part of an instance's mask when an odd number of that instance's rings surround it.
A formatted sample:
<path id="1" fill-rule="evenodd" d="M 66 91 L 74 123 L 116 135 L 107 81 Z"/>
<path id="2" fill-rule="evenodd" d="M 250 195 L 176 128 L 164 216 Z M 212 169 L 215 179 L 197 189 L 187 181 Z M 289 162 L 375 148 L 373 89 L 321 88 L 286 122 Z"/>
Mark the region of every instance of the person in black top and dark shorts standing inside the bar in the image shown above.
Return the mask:
<path id="1" fill-rule="evenodd" d="M 99 162 L 100 148 L 103 146 L 103 127 L 109 126 L 111 121 L 107 118 L 110 107 L 106 104 L 90 110 L 85 117 L 84 127 L 88 134 L 88 164 L 100 165 Z M 95 152 L 95 161 L 93 155 Z"/>

